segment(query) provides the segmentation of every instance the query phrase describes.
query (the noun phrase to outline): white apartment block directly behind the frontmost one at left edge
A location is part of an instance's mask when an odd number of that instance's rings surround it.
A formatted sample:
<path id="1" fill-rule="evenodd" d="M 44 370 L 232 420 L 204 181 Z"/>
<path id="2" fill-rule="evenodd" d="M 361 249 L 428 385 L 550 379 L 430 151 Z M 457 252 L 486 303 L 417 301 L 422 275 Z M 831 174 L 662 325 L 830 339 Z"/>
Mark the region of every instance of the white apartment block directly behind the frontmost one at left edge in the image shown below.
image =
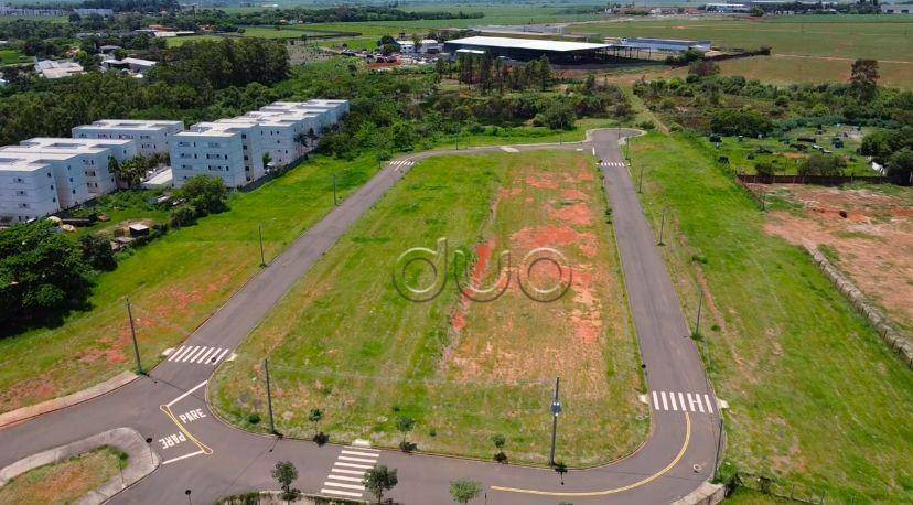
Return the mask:
<path id="1" fill-rule="evenodd" d="M 0 164 L 23 165 L 43 164 L 51 170 L 54 189 L 57 191 L 58 208 L 69 208 L 92 197 L 86 184 L 83 158 L 79 154 L 49 152 L 18 152 L 7 146 L 0 148 Z M 6 186 L 0 186 L 4 190 Z"/>

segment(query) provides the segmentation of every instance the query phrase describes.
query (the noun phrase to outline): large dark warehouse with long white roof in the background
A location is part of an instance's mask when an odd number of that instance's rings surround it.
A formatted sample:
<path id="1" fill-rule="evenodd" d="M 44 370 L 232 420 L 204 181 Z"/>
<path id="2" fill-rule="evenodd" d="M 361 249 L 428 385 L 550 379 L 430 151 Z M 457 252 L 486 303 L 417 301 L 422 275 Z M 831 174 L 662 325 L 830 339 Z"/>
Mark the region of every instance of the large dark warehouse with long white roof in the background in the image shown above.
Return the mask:
<path id="1" fill-rule="evenodd" d="M 506 36 L 469 36 L 444 42 L 444 51 L 454 57 L 461 53 L 487 53 L 528 62 L 545 55 L 549 62 L 565 65 L 604 61 L 609 56 L 608 50 L 609 44 Z"/>

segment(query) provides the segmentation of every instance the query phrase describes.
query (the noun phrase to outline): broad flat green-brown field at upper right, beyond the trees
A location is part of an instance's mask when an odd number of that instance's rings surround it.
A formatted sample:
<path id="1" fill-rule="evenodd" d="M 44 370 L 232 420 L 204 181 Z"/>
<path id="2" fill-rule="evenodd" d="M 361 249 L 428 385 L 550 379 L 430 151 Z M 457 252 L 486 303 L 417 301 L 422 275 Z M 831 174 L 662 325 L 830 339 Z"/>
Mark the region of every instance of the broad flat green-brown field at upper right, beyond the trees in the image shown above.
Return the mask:
<path id="1" fill-rule="evenodd" d="M 874 58 L 880 61 L 882 84 L 913 86 L 911 17 L 626 21 L 586 23 L 574 25 L 572 30 L 619 37 L 709 39 L 713 45 L 722 47 L 771 46 L 773 56 L 720 64 L 726 75 L 744 75 L 764 82 L 844 82 L 853 60 Z"/>

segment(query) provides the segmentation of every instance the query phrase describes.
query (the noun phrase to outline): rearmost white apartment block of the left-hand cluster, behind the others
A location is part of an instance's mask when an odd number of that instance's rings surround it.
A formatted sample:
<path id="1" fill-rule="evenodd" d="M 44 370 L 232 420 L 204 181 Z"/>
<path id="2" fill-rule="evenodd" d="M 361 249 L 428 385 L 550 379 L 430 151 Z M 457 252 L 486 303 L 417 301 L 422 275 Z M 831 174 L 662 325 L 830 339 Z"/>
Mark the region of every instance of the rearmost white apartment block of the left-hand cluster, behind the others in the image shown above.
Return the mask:
<path id="1" fill-rule="evenodd" d="M 142 155 L 171 152 L 171 137 L 184 130 L 181 121 L 103 119 L 73 129 L 74 139 L 128 139 Z"/>

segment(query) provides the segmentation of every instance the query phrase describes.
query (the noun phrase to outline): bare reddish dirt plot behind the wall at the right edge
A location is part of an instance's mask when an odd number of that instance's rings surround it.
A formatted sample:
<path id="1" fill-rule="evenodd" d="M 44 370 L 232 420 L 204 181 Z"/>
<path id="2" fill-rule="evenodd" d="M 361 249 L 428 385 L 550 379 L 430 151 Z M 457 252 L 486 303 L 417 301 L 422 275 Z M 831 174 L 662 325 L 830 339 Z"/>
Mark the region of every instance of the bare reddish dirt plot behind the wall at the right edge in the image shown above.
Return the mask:
<path id="1" fill-rule="evenodd" d="M 892 321 L 913 334 L 913 190 L 802 185 L 765 190 L 787 207 L 769 214 L 769 233 L 820 248 Z"/>

